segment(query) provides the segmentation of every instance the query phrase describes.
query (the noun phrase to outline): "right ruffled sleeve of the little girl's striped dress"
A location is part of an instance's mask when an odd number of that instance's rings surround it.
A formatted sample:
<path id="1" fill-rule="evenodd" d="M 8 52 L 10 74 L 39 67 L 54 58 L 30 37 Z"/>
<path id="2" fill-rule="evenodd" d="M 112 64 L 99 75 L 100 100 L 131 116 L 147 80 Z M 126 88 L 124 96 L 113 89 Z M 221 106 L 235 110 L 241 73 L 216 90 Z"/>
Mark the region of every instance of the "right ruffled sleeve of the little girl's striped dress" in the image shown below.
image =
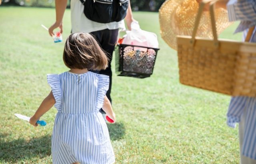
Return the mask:
<path id="1" fill-rule="evenodd" d="M 98 94 L 96 109 L 99 110 L 103 106 L 104 97 L 109 87 L 109 77 L 106 75 L 98 74 Z"/>

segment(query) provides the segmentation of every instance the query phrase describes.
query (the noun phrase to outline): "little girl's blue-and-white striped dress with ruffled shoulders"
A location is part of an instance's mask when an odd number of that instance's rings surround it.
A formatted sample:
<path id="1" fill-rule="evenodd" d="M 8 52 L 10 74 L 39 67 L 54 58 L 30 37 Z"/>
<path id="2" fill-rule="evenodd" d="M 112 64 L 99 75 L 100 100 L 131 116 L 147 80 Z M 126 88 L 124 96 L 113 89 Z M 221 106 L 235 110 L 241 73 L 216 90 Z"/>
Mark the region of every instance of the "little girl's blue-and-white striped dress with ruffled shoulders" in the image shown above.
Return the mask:
<path id="1" fill-rule="evenodd" d="M 53 164 L 112 164 L 114 151 L 99 112 L 108 90 L 108 76 L 48 74 L 58 113 L 52 133 Z"/>

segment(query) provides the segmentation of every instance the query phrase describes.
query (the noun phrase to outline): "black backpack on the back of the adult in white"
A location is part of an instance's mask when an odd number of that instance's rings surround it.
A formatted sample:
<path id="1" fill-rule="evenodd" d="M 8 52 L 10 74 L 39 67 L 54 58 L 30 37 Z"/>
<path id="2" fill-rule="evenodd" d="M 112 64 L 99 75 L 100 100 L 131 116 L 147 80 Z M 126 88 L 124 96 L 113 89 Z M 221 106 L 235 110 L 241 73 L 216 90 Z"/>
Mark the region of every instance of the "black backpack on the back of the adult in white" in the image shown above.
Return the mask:
<path id="1" fill-rule="evenodd" d="M 80 0 L 85 16 L 99 23 L 119 22 L 127 13 L 129 0 Z"/>

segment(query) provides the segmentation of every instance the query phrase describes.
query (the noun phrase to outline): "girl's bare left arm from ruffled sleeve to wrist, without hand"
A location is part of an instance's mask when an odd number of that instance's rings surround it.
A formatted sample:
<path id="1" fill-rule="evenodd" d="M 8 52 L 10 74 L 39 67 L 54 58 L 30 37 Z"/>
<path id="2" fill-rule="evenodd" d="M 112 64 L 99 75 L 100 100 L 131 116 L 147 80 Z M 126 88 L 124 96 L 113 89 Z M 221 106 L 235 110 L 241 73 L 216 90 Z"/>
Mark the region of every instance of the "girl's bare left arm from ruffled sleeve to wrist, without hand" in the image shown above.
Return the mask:
<path id="1" fill-rule="evenodd" d="M 55 99 L 52 92 L 50 92 L 50 94 L 42 101 L 41 105 L 39 106 L 38 110 L 36 110 L 33 117 L 39 119 L 48 110 L 50 110 L 50 108 L 52 108 L 54 104 L 55 104 Z"/>

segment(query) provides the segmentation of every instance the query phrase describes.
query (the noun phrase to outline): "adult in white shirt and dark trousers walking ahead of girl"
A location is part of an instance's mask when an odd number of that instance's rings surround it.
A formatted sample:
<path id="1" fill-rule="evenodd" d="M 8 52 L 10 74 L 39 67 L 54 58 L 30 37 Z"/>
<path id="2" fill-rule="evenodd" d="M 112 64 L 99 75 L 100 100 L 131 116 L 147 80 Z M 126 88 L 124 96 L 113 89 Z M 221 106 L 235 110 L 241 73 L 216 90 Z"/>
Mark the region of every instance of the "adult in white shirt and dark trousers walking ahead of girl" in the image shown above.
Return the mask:
<path id="1" fill-rule="evenodd" d="M 66 10 L 67 2 L 68 0 L 55 0 L 56 22 L 54 22 L 54 24 L 52 24 L 52 26 L 48 30 L 50 36 L 54 35 L 53 30 L 56 28 L 60 28 L 60 32 L 63 32 L 62 19 Z M 80 0 L 71 0 L 70 10 L 72 33 L 86 32 L 93 34 L 98 40 L 102 49 L 107 52 L 107 56 L 109 58 L 108 67 L 106 68 L 106 70 L 100 70 L 98 73 L 107 75 L 110 78 L 109 89 L 106 93 L 106 96 L 108 97 L 110 102 L 112 102 L 110 97 L 112 86 L 112 71 L 110 63 L 112 61 L 112 54 L 118 37 L 118 30 L 125 29 L 124 20 L 121 20 L 120 22 L 110 22 L 106 24 L 89 20 L 84 15 L 84 5 L 82 4 L 82 2 L 80 2 Z M 130 1 L 125 20 L 128 29 L 131 30 L 131 23 L 136 20 L 134 20 L 134 18 L 132 17 Z M 101 112 L 104 114 L 103 110 L 101 110 Z"/>

